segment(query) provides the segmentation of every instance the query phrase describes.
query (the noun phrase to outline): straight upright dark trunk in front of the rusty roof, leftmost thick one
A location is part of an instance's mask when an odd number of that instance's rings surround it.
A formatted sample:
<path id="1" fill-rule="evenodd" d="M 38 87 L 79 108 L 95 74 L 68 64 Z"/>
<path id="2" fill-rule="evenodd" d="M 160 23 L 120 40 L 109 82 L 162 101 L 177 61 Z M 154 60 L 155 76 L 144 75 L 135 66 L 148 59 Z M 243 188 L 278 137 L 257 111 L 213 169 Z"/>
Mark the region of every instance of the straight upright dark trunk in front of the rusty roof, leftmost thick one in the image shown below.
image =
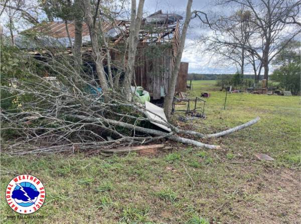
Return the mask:
<path id="1" fill-rule="evenodd" d="M 77 63 L 77 67 L 79 68 L 82 64 L 82 10 L 80 7 L 81 0 L 74 0 L 74 58 Z"/>

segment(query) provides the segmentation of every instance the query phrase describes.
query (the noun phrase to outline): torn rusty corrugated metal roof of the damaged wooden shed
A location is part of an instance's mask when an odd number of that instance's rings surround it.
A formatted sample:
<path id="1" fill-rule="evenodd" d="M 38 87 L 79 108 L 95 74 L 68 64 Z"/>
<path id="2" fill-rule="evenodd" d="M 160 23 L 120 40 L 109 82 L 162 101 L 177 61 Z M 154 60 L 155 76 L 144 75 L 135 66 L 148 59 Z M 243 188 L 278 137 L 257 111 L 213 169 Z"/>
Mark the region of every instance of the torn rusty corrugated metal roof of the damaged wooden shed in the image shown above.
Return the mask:
<path id="1" fill-rule="evenodd" d="M 150 16 L 149 19 L 151 19 L 154 16 L 158 15 L 167 15 L 163 14 L 162 11 L 158 11 Z M 171 15 L 169 15 L 171 16 Z M 166 20 L 164 17 L 164 21 L 167 21 L 166 23 L 162 23 L 156 20 L 150 22 L 151 24 L 145 24 L 146 19 L 143 19 L 143 22 L 141 24 L 141 28 L 139 31 L 139 41 L 140 42 L 171 42 L 172 39 L 174 39 L 174 34 L 176 32 L 176 29 L 178 27 L 178 19 L 181 19 L 181 17 L 175 17 L 173 15 L 172 20 Z M 170 17 L 168 17 L 169 19 Z M 160 20 L 161 21 L 161 20 Z M 154 24 L 153 24 L 154 23 Z M 115 20 L 112 21 L 104 21 L 103 22 L 103 32 L 107 37 L 111 37 L 110 41 L 113 44 L 117 44 L 121 42 L 124 38 L 128 36 L 128 28 L 129 28 L 129 20 Z M 149 26 L 154 26 L 153 28 L 150 28 Z M 29 49 L 35 49 L 37 47 L 71 47 L 74 43 L 75 38 L 75 26 L 73 22 L 67 23 L 68 32 L 71 39 L 71 44 L 68 38 L 67 30 L 66 30 L 66 24 L 64 21 L 53 21 L 53 22 L 43 22 L 41 24 L 38 24 L 34 26 L 33 28 L 30 28 L 28 30 L 25 30 L 20 33 L 19 36 L 16 37 L 16 45 L 21 48 L 29 48 Z M 36 35 L 33 37 L 31 35 L 24 35 L 26 33 L 30 32 L 36 32 Z M 91 44 L 90 40 L 90 33 L 89 33 L 89 27 L 87 23 L 83 22 L 82 26 L 82 44 L 83 45 L 89 45 Z"/>

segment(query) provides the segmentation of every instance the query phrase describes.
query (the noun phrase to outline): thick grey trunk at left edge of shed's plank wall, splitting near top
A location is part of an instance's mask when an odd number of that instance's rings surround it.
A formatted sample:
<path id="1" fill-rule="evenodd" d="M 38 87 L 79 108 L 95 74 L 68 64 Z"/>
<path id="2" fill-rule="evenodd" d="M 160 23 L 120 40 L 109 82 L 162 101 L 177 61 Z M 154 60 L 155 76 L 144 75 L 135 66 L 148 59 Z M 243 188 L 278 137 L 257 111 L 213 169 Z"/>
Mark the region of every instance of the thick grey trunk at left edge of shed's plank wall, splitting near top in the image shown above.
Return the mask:
<path id="1" fill-rule="evenodd" d="M 131 82 L 134 77 L 135 56 L 138 44 L 138 34 L 141 25 L 144 0 L 139 0 L 138 10 L 136 13 L 136 0 L 131 1 L 131 18 L 128 36 L 128 59 L 125 66 L 125 75 L 123 80 L 124 96 L 127 100 L 131 99 Z"/>

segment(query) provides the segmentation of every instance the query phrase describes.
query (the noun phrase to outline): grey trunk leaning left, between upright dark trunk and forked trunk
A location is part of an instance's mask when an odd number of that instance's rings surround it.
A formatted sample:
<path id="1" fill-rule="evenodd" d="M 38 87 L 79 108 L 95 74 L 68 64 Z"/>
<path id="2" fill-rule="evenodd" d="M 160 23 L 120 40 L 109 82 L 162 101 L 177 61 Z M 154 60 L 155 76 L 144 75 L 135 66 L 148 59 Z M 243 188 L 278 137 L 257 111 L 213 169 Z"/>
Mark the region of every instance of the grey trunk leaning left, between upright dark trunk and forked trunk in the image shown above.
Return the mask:
<path id="1" fill-rule="evenodd" d="M 97 73 L 102 91 L 107 92 L 108 84 L 107 84 L 106 75 L 105 75 L 105 72 L 103 69 L 103 64 L 102 64 L 102 53 L 99 50 L 98 36 L 97 36 L 96 27 L 95 27 L 95 22 L 93 22 L 93 18 L 91 15 L 90 0 L 83 0 L 83 3 L 84 3 L 84 8 L 85 8 L 86 22 L 89 26 L 91 44 L 92 44 L 92 49 L 93 49 L 93 53 L 94 53 L 95 65 L 96 65 L 96 73 Z"/>

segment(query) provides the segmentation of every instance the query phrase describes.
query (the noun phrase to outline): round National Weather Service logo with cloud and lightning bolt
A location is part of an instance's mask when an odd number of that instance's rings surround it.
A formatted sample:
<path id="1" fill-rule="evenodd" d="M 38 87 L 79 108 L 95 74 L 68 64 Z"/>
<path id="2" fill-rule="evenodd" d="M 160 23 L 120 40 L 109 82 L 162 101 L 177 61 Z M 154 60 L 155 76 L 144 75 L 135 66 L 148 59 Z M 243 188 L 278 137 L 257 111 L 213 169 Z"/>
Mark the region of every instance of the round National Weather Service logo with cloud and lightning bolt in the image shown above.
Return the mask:
<path id="1" fill-rule="evenodd" d="M 30 214 L 41 208 L 45 195 L 41 180 L 29 174 L 14 177 L 6 189 L 8 204 L 21 214 Z"/>

